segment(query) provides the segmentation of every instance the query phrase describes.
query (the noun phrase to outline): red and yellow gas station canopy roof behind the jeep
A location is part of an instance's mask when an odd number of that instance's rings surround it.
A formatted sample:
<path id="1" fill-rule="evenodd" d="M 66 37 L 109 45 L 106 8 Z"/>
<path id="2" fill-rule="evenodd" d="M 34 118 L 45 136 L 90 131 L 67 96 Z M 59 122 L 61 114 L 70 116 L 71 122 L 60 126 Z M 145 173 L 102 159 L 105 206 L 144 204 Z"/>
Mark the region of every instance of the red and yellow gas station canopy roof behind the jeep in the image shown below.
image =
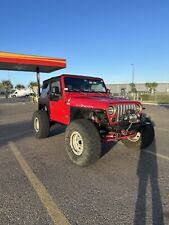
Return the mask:
<path id="1" fill-rule="evenodd" d="M 0 70 L 50 73 L 63 68 L 65 59 L 0 52 Z"/>

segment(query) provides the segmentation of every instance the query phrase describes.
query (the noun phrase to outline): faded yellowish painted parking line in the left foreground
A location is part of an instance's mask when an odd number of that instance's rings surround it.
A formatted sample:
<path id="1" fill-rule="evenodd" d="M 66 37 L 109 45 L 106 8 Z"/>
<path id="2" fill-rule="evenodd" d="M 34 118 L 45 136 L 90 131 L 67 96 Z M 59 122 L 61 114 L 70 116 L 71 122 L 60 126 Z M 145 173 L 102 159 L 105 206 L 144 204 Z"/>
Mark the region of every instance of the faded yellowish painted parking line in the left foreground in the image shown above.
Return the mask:
<path id="1" fill-rule="evenodd" d="M 70 225 L 67 218 L 63 215 L 63 213 L 59 210 L 56 203 L 53 201 L 52 196 L 46 190 L 45 186 L 41 183 L 41 181 L 36 177 L 32 169 L 29 167 L 25 159 L 22 157 L 20 151 L 14 144 L 14 142 L 9 142 L 9 147 L 13 154 L 15 155 L 18 163 L 20 164 L 22 170 L 24 171 L 26 177 L 32 184 L 35 192 L 39 196 L 42 204 L 47 209 L 48 214 L 52 218 L 55 225 Z"/>

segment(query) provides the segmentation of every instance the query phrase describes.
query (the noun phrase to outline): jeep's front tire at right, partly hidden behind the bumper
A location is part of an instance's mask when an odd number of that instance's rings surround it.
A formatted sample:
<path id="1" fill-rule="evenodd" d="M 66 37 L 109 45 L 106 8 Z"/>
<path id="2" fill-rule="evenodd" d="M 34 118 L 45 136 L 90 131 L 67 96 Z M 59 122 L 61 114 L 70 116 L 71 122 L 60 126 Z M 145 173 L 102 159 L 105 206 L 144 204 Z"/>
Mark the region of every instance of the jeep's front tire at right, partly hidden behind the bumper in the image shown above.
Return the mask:
<path id="1" fill-rule="evenodd" d="M 131 138 L 123 139 L 122 142 L 128 148 L 144 149 L 148 147 L 154 140 L 154 126 L 152 122 L 147 118 L 145 125 L 135 136 Z"/>

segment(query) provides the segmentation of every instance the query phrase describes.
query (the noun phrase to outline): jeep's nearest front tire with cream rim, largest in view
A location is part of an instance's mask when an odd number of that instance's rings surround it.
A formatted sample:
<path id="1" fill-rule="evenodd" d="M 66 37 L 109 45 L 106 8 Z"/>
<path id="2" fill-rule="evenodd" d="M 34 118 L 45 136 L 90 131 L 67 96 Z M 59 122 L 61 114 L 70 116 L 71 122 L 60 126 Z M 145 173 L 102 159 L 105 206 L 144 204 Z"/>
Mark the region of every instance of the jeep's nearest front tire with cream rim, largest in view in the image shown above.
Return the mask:
<path id="1" fill-rule="evenodd" d="M 95 125 L 87 119 L 74 120 L 66 128 L 65 147 L 73 163 L 86 166 L 101 156 L 101 140 Z"/>

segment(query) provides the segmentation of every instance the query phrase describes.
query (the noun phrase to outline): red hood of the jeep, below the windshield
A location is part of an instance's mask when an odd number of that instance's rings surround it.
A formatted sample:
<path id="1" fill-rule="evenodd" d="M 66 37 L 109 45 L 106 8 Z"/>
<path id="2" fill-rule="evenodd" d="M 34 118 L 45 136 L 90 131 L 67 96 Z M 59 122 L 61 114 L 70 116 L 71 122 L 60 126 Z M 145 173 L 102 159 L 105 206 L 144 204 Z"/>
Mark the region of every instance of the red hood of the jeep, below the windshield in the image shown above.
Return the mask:
<path id="1" fill-rule="evenodd" d="M 140 104 L 128 99 L 117 99 L 111 96 L 74 96 L 69 99 L 70 106 L 82 108 L 106 109 L 109 105 Z"/>

